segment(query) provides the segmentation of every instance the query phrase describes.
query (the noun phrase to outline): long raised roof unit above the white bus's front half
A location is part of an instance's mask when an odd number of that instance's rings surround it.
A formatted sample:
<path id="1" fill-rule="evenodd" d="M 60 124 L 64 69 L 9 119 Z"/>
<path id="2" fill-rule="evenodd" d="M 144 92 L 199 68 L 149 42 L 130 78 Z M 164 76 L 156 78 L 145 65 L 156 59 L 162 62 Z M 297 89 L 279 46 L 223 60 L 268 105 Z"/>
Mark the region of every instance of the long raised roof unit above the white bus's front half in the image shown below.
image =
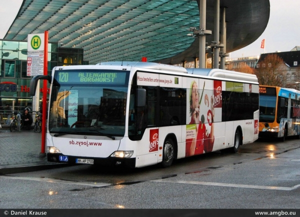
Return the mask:
<path id="1" fill-rule="evenodd" d="M 187 73 L 186 69 L 181 66 L 160 64 L 156 62 L 111 61 L 111 62 L 99 62 L 96 65 L 120 65 L 120 66 L 131 66 L 131 67 L 150 68 L 150 69 L 157 69 L 157 70 Z"/>

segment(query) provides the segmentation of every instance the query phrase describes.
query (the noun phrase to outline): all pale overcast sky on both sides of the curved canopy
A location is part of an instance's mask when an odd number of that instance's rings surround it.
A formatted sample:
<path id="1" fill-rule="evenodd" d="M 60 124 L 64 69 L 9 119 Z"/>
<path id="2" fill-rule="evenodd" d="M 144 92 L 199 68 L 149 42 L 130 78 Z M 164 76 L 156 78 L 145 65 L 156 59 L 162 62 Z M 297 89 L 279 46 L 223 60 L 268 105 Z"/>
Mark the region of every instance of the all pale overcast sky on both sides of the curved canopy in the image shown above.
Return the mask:
<path id="1" fill-rule="evenodd" d="M 3 0 L 2 0 L 3 1 Z M 229 53 L 231 58 L 255 56 L 265 52 L 289 51 L 300 46 L 300 0 L 269 0 L 270 17 L 264 32 L 248 46 Z M 0 7 L 0 39 L 14 20 L 22 0 L 5 0 Z M 45 29 L 47 30 L 47 29 Z M 265 39 L 265 49 L 260 48 Z"/>

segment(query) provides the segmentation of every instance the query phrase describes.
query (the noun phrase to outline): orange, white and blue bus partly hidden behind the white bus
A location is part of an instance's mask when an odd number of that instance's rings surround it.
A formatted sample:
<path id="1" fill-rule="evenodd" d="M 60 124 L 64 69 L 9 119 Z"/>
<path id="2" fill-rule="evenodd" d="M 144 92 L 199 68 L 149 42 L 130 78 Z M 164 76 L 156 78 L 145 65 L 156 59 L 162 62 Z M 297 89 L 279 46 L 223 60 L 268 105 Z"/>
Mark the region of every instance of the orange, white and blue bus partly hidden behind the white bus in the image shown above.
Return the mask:
<path id="1" fill-rule="evenodd" d="M 259 137 L 300 135 L 300 91 L 259 86 Z"/>

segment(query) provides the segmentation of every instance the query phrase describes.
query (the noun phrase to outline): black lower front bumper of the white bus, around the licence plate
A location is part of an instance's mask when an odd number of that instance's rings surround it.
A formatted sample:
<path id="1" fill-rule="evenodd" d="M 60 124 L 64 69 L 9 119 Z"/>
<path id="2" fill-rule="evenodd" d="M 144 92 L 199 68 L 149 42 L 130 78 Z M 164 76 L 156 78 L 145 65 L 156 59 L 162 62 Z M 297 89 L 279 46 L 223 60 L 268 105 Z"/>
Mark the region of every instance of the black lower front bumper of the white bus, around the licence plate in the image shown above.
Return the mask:
<path id="1" fill-rule="evenodd" d="M 121 165 L 126 167 L 135 167 L 135 157 L 133 158 L 119 158 L 119 157 L 82 157 L 82 156 L 66 156 L 61 153 L 47 153 L 47 160 L 49 162 L 59 162 L 59 163 L 71 163 L 71 164 L 82 164 L 76 163 L 76 159 L 93 159 L 93 164 L 95 165 Z M 61 160 L 59 160 L 61 159 Z M 84 164 L 84 163 L 83 163 Z"/>

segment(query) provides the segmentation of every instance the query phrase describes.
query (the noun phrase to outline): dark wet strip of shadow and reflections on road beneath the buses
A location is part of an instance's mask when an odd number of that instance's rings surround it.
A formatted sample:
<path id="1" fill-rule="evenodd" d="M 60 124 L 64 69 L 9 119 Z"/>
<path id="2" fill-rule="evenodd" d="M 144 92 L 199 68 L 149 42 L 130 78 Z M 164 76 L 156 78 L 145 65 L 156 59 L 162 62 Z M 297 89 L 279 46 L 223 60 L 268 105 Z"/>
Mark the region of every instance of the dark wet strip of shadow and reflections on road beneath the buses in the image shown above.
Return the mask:
<path id="1" fill-rule="evenodd" d="M 262 158 L 275 159 L 276 155 L 300 147 L 300 139 L 288 138 L 284 142 L 276 139 L 258 139 L 243 144 L 237 153 L 228 150 L 177 159 L 168 168 L 159 164 L 142 168 L 124 168 L 121 166 L 75 165 L 65 168 L 26 173 L 28 176 L 64 179 L 78 182 L 101 182 L 120 189 L 121 186 L 162 179 L 189 173 L 209 173 L 226 165 L 239 164 Z M 24 173 L 14 175 L 23 176 Z"/>

